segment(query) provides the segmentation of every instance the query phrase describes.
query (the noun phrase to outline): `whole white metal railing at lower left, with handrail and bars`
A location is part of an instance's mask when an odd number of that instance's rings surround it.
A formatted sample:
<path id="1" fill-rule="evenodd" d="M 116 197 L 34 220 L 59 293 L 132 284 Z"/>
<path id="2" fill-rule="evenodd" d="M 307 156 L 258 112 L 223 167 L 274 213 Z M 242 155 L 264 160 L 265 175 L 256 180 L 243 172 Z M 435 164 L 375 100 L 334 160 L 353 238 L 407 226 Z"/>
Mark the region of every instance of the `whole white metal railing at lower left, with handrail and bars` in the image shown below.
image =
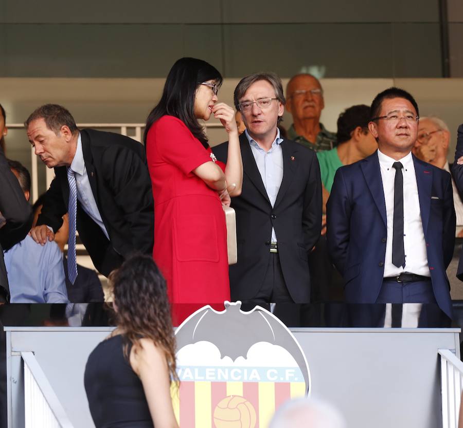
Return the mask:
<path id="1" fill-rule="evenodd" d="M 33 352 L 24 361 L 25 428 L 74 428 Z"/>

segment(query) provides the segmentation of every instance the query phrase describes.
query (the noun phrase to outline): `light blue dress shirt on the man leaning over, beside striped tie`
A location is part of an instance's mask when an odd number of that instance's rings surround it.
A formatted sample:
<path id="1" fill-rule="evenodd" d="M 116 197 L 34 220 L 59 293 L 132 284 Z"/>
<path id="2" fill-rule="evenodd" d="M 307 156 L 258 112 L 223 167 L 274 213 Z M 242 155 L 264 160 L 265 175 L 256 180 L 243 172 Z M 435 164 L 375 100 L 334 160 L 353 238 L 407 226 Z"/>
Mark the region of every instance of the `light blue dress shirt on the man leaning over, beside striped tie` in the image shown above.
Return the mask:
<path id="1" fill-rule="evenodd" d="M 82 209 L 92 218 L 93 221 L 101 228 L 106 238 L 109 239 L 108 231 L 104 227 L 101 214 L 93 196 L 90 181 L 88 181 L 87 169 L 85 168 L 85 161 L 82 152 L 82 138 L 79 133 L 77 139 L 77 150 L 74 159 L 70 164 L 70 169 L 74 171 L 77 185 L 77 200 L 80 202 Z"/>

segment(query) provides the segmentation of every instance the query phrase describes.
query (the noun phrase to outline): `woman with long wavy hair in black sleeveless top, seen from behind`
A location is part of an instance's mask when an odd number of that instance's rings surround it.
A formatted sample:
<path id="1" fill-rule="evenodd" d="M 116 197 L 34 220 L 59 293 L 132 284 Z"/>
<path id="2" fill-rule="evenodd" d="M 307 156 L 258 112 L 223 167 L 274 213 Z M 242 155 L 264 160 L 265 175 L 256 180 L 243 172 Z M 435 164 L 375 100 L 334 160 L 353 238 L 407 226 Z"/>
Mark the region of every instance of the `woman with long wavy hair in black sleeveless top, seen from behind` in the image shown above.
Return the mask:
<path id="1" fill-rule="evenodd" d="M 175 338 L 166 283 L 136 255 L 110 275 L 117 328 L 92 351 L 84 384 L 96 428 L 178 428 L 171 396 Z"/>

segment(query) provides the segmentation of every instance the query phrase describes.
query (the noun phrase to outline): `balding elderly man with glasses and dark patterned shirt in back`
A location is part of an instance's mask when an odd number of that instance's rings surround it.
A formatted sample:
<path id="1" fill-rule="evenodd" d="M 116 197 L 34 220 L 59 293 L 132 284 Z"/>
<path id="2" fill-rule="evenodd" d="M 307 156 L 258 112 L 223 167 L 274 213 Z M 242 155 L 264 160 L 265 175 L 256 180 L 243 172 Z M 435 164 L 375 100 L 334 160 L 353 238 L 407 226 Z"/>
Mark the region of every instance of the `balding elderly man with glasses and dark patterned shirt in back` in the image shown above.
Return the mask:
<path id="1" fill-rule="evenodd" d="M 336 135 L 320 123 L 325 107 L 322 85 L 309 74 L 293 76 L 286 86 L 286 109 L 293 116 L 288 138 L 314 150 L 331 150 Z"/>

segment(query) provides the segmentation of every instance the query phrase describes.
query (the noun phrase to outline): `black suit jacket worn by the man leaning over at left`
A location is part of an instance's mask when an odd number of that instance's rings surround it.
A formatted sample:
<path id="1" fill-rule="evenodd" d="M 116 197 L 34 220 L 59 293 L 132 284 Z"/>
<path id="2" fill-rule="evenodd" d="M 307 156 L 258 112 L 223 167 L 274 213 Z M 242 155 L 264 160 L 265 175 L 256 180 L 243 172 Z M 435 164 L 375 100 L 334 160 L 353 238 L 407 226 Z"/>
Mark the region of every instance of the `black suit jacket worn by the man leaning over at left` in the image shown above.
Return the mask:
<path id="1" fill-rule="evenodd" d="M 154 203 L 145 148 L 122 135 L 82 129 L 88 180 L 110 240 L 77 204 L 77 230 L 95 267 L 108 275 L 132 252 L 152 254 Z M 69 185 L 65 166 L 55 168 L 37 224 L 55 232 L 67 212 Z"/>

